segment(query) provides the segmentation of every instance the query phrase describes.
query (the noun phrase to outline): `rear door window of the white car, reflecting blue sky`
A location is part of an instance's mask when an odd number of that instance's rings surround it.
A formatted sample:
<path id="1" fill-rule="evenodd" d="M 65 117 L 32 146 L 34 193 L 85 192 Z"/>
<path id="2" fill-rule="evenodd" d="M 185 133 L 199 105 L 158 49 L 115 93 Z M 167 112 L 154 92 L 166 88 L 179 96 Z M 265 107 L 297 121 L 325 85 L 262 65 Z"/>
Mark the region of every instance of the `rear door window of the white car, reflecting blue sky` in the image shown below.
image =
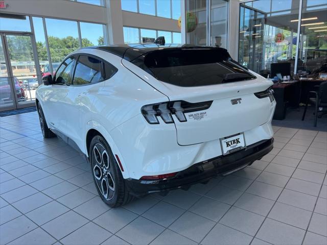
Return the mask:
<path id="1" fill-rule="evenodd" d="M 104 81 L 102 61 L 81 55 L 75 69 L 73 85 L 85 85 Z"/>

